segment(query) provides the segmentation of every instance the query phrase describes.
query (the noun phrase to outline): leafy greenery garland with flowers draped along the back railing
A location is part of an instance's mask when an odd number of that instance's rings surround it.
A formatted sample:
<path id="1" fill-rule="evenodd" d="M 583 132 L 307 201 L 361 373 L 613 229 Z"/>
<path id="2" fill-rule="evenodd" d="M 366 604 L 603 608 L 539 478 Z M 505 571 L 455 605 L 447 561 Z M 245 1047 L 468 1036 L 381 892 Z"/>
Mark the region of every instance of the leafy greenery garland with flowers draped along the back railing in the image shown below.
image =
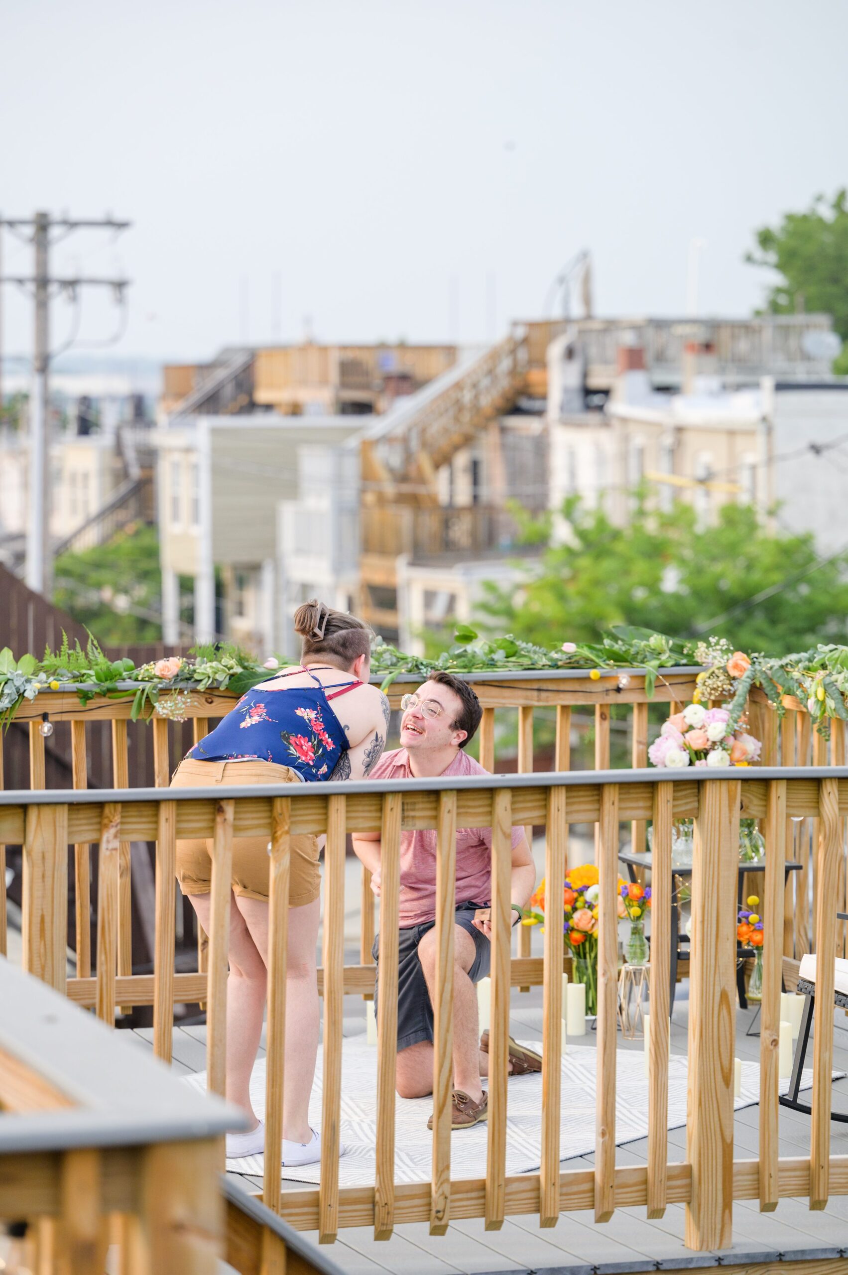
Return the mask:
<path id="1" fill-rule="evenodd" d="M 0 723 L 13 720 L 24 700 L 46 691 L 71 691 L 82 704 L 94 696 L 131 699 L 131 719 L 162 717 L 184 720 L 193 692 L 208 690 L 244 695 L 258 682 L 284 667 L 286 659 L 260 663 L 254 655 L 230 643 L 196 645 L 187 657 L 170 657 L 136 668 L 131 659 L 110 659 L 94 638 L 83 649 L 70 646 L 62 634 L 57 652 L 47 649 L 41 660 L 32 654 L 14 658 L 6 646 L 0 650 Z M 650 699 L 663 669 L 699 666 L 696 699 L 727 703 L 729 727 L 738 724 L 752 686 L 763 688 L 783 715 L 784 696 L 806 706 L 821 734 L 828 734 L 830 719 L 848 720 L 848 646 L 822 645 L 780 659 L 735 652 L 728 641 L 712 638 L 685 643 L 649 629 L 617 626 L 601 643 L 561 643 L 543 648 L 506 634 L 485 638 L 468 625 L 459 625 L 453 645 L 436 659 L 409 655 L 377 638 L 371 652 L 371 671 L 383 688 L 409 673 L 426 677 L 435 669 L 455 673 L 533 672 L 536 669 L 587 669 L 601 677 L 603 669 L 640 669 Z M 161 700 L 159 696 L 166 696 Z"/>

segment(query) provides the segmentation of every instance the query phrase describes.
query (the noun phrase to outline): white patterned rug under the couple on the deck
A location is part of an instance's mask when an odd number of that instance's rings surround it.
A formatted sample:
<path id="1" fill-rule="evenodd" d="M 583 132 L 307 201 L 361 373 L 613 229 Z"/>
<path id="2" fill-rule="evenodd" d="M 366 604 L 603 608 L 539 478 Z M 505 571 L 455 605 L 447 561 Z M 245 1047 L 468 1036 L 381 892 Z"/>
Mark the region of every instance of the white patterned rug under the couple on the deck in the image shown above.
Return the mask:
<path id="1" fill-rule="evenodd" d="M 538 1040 L 524 1044 L 539 1049 Z M 342 1048 L 342 1141 L 346 1154 L 339 1160 L 339 1184 L 358 1187 L 374 1184 L 374 1146 L 376 1140 L 376 1058 L 374 1046 L 365 1037 L 347 1037 Z M 562 1159 L 594 1151 L 596 1049 L 569 1042 L 562 1060 L 562 1119 L 560 1146 Z M 616 1053 L 616 1144 L 634 1142 L 648 1136 L 648 1080 L 641 1051 L 618 1049 Z M 842 1076 L 844 1072 L 835 1072 Z M 205 1072 L 186 1076 L 186 1084 L 205 1089 Z M 486 1084 L 486 1081 L 483 1081 Z M 780 1081 L 786 1093 L 789 1081 Z M 802 1089 L 812 1088 L 812 1071 L 805 1070 Z M 265 1114 L 265 1060 L 259 1058 L 250 1079 L 254 1111 Z M 742 1063 L 742 1093 L 735 1107 L 752 1107 L 760 1099 L 760 1068 L 756 1062 Z M 395 1182 L 428 1182 L 431 1178 L 432 1133 L 427 1121 L 432 1112 L 431 1098 L 397 1098 L 395 1116 Z M 541 1164 L 541 1075 L 516 1076 L 508 1086 L 506 1172 L 532 1173 Z M 321 1051 L 318 1052 L 315 1085 L 310 1102 L 310 1123 L 321 1126 Z M 672 1057 L 668 1067 L 668 1128 L 686 1125 L 686 1058 Z M 453 1178 L 478 1178 L 486 1173 L 486 1125 L 455 1133 L 450 1144 Z M 261 1176 L 261 1155 L 228 1159 L 233 1173 Z M 295 1182 L 320 1181 L 320 1167 L 303 1165 L 283 1169 L 283 1178 Z"/>

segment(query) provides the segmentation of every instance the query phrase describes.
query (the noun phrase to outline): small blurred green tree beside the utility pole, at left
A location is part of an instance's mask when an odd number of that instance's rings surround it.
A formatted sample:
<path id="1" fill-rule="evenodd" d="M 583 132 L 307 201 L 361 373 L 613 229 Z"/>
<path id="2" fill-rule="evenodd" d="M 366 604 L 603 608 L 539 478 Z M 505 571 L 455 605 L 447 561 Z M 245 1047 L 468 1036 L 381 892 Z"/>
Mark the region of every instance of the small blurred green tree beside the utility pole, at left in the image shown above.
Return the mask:
<path id="1" fill-rule="evenodd" d="M 154 527 L 135 525 L 98 544 L 56 558 L 54 601 L 102 646 L 159 641 L 162 595 Z"/>

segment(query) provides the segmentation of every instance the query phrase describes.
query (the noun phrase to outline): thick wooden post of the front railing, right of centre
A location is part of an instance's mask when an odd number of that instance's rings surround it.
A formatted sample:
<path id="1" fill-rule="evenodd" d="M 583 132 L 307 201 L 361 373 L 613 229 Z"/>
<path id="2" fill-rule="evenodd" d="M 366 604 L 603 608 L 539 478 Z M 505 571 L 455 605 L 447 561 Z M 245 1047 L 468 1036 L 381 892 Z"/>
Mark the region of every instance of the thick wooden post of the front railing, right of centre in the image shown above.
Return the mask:
<path id="1" fill-rule="evenodd" d="M 689 982 L 689 1248 L 729 1248 L 733 1230 L 733 1038 L 740 780 L 699 785 Z"/>

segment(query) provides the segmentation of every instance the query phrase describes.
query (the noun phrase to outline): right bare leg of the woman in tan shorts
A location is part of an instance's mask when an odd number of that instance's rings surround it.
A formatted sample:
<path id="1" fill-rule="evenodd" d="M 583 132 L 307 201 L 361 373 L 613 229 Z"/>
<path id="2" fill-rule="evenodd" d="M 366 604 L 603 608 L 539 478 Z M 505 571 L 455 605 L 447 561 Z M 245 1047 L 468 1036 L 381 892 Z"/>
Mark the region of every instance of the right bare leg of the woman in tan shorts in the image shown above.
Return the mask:
<path id="1" fill-rule="evenodd" d="M 268 963 L 268 904 L 236 898 L 250 937 Z M 320 899 L 288 909 L 286 960 L 286 1061 L 283 1072 L 283 1137 L 309 1142 L 309 1099 L 315 1079 L 320 1009 L 318 1001 L 316 946 Z"/>

